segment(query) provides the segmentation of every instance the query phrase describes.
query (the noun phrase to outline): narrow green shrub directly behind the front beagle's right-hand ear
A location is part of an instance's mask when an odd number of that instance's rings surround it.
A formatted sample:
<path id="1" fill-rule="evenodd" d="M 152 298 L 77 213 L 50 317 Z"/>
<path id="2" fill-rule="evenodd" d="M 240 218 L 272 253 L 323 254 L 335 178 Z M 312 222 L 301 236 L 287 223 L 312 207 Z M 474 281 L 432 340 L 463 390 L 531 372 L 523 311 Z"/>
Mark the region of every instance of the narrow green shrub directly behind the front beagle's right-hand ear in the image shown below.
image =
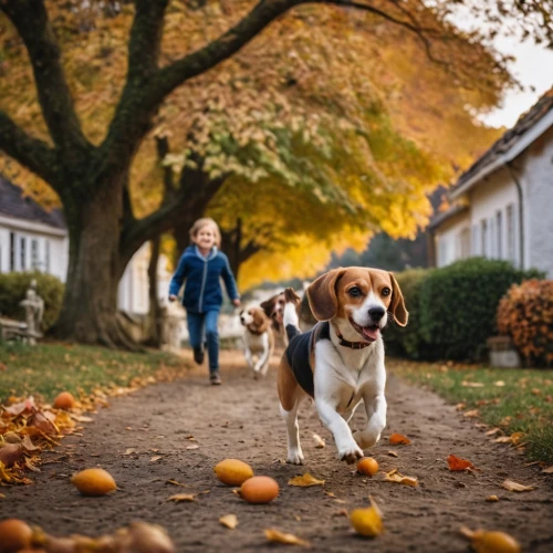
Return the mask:
<path id="1" fill-rule="evenodd" d="M 386 327 L 384 343 L 386 353 L 408 357 L 410 359 L 425 359 L 428 357 L 429 345 L 420 335 L 420 285 L 430 274 L 431 269 L 413 269 L 394 273 L 394 276 L 404 294 L 405 306 L 409 312 L 407 326 L 401 327 L 390 322 Z"/>

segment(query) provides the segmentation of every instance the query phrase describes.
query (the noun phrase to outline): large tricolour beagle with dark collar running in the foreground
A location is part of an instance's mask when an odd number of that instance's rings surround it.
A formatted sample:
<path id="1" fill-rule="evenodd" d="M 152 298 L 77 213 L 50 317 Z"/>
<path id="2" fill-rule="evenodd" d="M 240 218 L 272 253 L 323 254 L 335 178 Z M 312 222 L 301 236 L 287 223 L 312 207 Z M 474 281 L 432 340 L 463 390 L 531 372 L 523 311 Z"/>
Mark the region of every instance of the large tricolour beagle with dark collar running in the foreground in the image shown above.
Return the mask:
<path id="1" fill-rule="evenodd" d="M 404 296 L 394 275 L 378 269 L 334 269 L 307 288 L 319 323 L 301 333 L 300 298 L 285 290 L 284 326 L 289 345 L 278 372 L 281 415 L 288 429 L 288 462 L 303 463 L 298 408 L 306 395 L 314 399 L 323 425 L 334 436 L 338 458 L 348 463 L 374 446 L 386 426 L 384 344 L 382 328 L 393 319 L 407 324 Z M 364 403 L 365 428 L 348 426 Z"/>

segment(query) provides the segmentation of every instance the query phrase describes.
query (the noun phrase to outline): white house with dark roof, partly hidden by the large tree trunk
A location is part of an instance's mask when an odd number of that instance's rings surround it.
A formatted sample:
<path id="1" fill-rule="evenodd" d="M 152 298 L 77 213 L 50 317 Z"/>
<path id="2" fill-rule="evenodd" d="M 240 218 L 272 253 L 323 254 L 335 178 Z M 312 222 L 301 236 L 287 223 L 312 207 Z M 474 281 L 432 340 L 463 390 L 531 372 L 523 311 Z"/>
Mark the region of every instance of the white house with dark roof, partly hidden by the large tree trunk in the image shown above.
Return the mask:
<path id="1" fill-rule="evenodd" d="M 46 211 L 21 188 L 0 175 L 0 273 L 39 270 L 65 282 L 69 238 L 60 210 Z M 148 300 L 149 248 L 144 244 L 133 257 L 119 282 L 118 307 L 146 314 Z M 167 298 L 170 273 L 167 260 L 158 264 L 159 298 Z"/>

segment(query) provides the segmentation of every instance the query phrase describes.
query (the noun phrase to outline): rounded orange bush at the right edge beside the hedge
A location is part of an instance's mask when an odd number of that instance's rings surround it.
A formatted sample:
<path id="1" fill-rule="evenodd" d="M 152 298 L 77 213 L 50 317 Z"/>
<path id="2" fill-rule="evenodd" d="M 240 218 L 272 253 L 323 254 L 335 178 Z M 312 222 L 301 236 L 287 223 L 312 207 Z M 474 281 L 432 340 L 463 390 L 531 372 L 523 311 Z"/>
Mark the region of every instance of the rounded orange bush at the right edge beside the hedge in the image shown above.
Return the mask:
<path id="1" fill-rule="evenodd" d="M 498 306 L 498 330 L 531 364 L 553 363 L 553 281 L 513 284 Z"/>

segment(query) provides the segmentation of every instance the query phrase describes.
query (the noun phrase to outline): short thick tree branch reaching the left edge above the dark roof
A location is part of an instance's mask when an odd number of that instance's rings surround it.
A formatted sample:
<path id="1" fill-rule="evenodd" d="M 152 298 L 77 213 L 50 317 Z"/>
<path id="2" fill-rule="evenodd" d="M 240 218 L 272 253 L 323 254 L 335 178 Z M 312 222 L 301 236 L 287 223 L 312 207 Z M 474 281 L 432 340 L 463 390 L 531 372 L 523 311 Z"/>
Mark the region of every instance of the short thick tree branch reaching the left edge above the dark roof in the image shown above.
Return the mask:
<path id="1" fill-rule="evenodd" d="M 55 188 L 55 152 L 46 143 L 24 133 L 4 112 L 0 112 L 0 150 Z"/>

